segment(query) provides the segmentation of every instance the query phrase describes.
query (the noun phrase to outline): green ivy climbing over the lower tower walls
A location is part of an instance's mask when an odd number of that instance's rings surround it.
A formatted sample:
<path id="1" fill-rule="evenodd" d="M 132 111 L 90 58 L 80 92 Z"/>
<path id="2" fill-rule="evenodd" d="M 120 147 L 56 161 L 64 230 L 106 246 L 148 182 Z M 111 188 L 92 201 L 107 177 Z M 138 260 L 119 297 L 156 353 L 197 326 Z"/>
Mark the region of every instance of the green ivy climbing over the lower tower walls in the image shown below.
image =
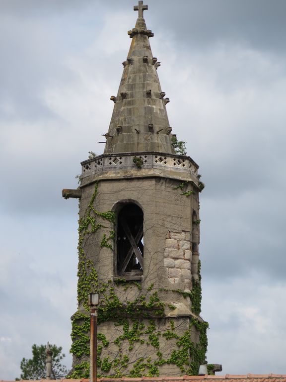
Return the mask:
<path id="1" fill-rule="evenodd" d="M 94 201 L 97 195 L 98 183 L 87 206 L 84 216 L 79 219 L 79 241 L 78 241 L 78 288 L 77 299 L 80 309 L 72 317 L 72 345 L 71 353 L 78 360 L 78 364 L 73 367 L 70 378 L 88 378 L 89 363 L 89 307 L 87 296 L 92 292 L 100 293 L 101 303 L 98 306 L 98 350 L 97 367 L 98 376 L 109 376 L 112 378 L 128 377 L 156 377 L 159 376 L 160 367 L 163 365 L 175 365 L 182 375 L 196 375 L 199 365 L 206 362 L 207 351 L 207 322 L 200 322 L 195 318 L 190 319 L 188 330 L 182 335 L 176 332 L 174 319 L 166 317 L 165 309 L 170 309 L 169 304 L 165 304 L 159 298 L 158 291 L 154 290 L 154 284 L 150 284 L 142 290 L 141 283 L 136 281 L 128 282 L 125 279 L 115 279 L 103 282 L 98 279 L 93 262 L 87 258 L 83 240 L 86 235 L 100 234 L 101 228 L 109 229 L 109 234 L 101 237 L 101 247 L 113 250 L 113 223 L 115 215 L 112 211 L 99 212 L 94 208 Z M 99 220 L 100 219 L 100 220 Z M 99 220 L 99 221 L 98 221 Z M 199 266 L 200 269 L 200 266 Z M 195 282 L 194 282 L 195 283 Z M 128 288 L 138 288 L 139 293 L 132 300 L 124 303 L 118 296 L 118 290 Z M 166 289 L 166 291 L 169 291 Z M 184 297 L 191 297 L 193 311 L 199 315 L 201 304 L 200 279 L 198 284 L 193 284 L 191 292 L 173 289 Z M 84 311 L 85 310 L 85 311 Z M 126 317 L 128 316 L 128 317 Z M 158 326 L 156 317 L 163 318 L 165 330 Z M 112 339 L 112 352 L 106 356 L 109 349 L 108 339 L 100 333 L 100 325 L 111 321 L 118 328 L 118 337 Z M 191 341 L 191 332 L 196 329 L 199 333 L 199 342 Z M 161 342 L 175 342 L 168 358 L 163 357 Z M 117 351 L 114 351 L 116 346 Z M 134 351 L 138 346 L 150 346 L 153 349 L 152 357 L 139 358 L 132 361 Z M 171 344 L 170 344 L 171 346 Z M 105 350 L 106 349 L 106 350 Z"/>

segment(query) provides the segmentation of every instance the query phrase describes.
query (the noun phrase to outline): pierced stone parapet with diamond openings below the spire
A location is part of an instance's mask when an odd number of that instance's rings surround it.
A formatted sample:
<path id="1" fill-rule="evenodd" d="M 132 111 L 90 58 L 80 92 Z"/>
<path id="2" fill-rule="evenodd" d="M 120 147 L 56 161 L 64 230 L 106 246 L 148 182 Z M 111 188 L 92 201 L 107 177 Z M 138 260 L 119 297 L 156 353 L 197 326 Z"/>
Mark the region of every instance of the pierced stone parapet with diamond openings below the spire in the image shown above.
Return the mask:
<path id="1" fill-rule="evenodd" d="M 81 162 L 81 179 L 101 172 L 122 171 L 137 169 L 134 157 L 140 158 L 142 169 L 166 169 L 178 172 L 198 174 L 199 166 L 190 158 L 184 155 L 171 155 L 162 153 L 124 153 L 116 155 L 99 155 L 93 159 Z M 138 161 L 138 159 L 137 159 Z"/>

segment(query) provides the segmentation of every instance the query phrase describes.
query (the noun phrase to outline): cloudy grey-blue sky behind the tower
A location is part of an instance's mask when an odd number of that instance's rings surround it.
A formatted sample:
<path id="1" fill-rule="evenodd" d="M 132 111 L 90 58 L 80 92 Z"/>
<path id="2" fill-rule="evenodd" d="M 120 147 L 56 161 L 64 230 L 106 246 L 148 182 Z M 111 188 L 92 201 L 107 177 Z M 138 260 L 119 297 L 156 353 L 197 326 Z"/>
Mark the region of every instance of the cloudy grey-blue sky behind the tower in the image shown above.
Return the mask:
<path id="1" fill-rule="evenodd" d="M 199 165 L 220 374 L 286 374 L 286 1 L 148 0 L 170 124 Z M 0 0 L 0 379 L 76 310 L 75 176 L 102 153 L 134 0 Z"/>

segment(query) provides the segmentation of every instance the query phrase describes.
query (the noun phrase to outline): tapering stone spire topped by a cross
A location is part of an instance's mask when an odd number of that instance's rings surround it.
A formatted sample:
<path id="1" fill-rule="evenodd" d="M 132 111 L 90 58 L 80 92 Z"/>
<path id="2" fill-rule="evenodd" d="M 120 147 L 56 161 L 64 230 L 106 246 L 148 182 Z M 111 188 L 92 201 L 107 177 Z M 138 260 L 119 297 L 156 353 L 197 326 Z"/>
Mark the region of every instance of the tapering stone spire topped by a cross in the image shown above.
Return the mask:
<path id="1" fill-rule="evenodd" d="M 157 75 L 160 65 L 153 57 L 143 11 L 148 5 L 139 1 L 135 28 L 128 31 L 132 38 L 118 94 L 112 96 L 114 110 L 106 134 L 104 154 L 155 151 L 173 153 L 171 128 L 166 103 Z"/>

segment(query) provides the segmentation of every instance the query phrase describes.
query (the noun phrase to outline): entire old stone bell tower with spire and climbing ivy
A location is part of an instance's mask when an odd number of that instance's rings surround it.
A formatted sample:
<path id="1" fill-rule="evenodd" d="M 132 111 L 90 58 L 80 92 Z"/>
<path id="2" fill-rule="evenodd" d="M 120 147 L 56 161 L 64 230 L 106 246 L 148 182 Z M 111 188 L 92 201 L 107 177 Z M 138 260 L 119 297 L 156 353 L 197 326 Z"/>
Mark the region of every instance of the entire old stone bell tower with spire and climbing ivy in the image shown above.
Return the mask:
<path id="1" fill-rule="evenodd" d="M 131 47 L 105 134 L 104 154 L 81 163 L 78 309 L 72 316 L 73 372 L 88 377 L 87 295 L 100 294 L 100 376 L 197 375 L 206 363 L 200 317 L 198 165 L 175 152 L 139 1 Z"/>

